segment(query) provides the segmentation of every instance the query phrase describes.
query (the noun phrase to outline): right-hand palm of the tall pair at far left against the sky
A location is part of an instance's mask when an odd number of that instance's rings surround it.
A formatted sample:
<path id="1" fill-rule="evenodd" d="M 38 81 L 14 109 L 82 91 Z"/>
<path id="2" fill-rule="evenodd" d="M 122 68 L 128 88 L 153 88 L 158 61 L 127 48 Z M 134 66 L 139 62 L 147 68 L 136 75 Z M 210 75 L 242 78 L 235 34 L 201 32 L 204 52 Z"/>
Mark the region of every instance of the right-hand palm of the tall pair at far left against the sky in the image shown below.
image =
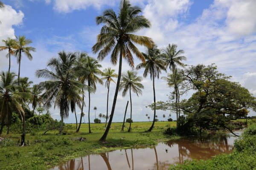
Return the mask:
<path id="1" fill-rule="evenodd" d="M 32 60 L 31 51 L 35 51 L 35 48 L 28 47 L 27 45 L 31 44 L 32 40 L 26 39 L 25 36 L 20 36 L 16 40 L 15 45 L 15 56 L 17 57 L 17 63 L 19 64 L 19 73 L 18 73 L 18 84 L 20 84 L 20 62 L 21 62 L 21 53 L 23 52 L 29 60 Z"/>

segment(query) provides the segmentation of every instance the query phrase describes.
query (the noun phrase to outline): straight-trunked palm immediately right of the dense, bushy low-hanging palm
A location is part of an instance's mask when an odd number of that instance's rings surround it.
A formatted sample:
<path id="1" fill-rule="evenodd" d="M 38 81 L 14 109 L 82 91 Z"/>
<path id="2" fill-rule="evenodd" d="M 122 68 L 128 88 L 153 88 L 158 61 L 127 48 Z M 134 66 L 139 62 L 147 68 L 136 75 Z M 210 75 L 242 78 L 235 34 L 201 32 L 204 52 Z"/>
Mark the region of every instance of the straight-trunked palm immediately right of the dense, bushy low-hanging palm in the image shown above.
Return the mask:
<path id="1" fill-rule="evenodd" d="M 85 74 L 85 79 L 88 82 L 88 86 L 93 88 L 94 91 L 91 91 L 90 89 L 88 90 L 88 96 L 89 96 L 89 107 L 88 107 L 88 122 L 89 122 L 89 133 L 91 132 L 90 129 L 90 92 L 95 92 L 96 91 L 96 83 L 103 84 L 102 79 L 98 77 L 98 75 L 102 74 L 102 71 L 100 71 L 99 68 L 102 67 L 102 65 L 99 64 L 99 61 L 94 59 L 93 57 L 86 57 L 85 59 L 85 65 L 87 67 L 87 73 Z M 93 109 L 97 110 L 97 107 L 94 107 Z M 95 110 L 95 113 L 96 113 Z"/>

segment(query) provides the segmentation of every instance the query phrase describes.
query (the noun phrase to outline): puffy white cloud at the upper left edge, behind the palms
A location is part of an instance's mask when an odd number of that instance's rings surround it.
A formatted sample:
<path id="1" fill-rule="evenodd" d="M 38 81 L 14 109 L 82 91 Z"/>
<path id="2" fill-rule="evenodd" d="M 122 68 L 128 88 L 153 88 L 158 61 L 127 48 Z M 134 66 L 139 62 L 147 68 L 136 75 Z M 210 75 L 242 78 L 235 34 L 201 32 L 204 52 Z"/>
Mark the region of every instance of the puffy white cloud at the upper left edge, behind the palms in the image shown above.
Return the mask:
<path id="1" fill-rule="evenodd" d="M 18 26 L 22 24 L 24 14 L 22 11 L 15 11 L 12 6 L 6 5 L 3 10 L 0 10 L 0 40 L 5 40 L 7 37 L 15 38 L 15 30 L 13 26 Z M 3 42 L 0 41 L 0 45 L 3 45 Z M 8 59 L 5 56 L 7 51 L 0 52 L 0 70 L 2 67 L 5 68 Z"/>

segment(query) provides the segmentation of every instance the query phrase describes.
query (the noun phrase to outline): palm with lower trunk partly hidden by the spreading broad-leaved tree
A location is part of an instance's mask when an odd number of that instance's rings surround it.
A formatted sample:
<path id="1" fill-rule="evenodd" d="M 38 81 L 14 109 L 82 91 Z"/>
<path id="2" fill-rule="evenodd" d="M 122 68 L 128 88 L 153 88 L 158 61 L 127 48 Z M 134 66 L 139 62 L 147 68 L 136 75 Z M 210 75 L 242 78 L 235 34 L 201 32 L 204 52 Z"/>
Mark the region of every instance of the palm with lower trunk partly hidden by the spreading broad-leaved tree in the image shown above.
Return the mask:
<path id="1" fill-rule="evenodd" d="M 169 44 L 166 49 L 164 49 L 164 53 L 166 54 L 166 62 L 167 66 L 169 65 L 169 69 L 172 71 L 172 74 L 176 74 L 177 65 L 180 67 L 185 67 L 186 65 L 182 62 L 183 60 L 186 61 L 186 57 L 182 56 L 181 54 L 184 53 L 183 50 L 177 51 L 177 45 Z M 175 89 L 175 99 L 176 99 L 176 106 L 179 104 L 180 95 L 177 88 L 177 84 L 174 84 Z M 177 108 L 177 107 L 176 107 Z M 178 109 L 176 109 L 177 119 L 178 119 Z"/>

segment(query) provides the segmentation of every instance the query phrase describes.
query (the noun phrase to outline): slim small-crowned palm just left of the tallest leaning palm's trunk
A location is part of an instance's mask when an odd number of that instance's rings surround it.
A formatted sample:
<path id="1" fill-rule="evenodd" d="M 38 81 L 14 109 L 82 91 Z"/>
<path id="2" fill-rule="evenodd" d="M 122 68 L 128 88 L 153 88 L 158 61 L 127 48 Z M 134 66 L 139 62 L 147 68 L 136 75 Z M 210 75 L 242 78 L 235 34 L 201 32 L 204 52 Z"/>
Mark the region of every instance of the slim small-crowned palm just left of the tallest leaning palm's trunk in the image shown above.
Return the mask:
<path id="1" fill-rule="evenodd" d="M 114 69 L 111 69 L 110 67 L 109 68 L 105 68 L 102 72 L 102 79 L 106 79 L 106 82 L 105 82 L 105 87 L 108 88 L 108 94 L 109 94 L 109 86 L 110 86 L 110 82 L 114 82 L 116 83 L 112 78 L 115 77 L 117 78 L 118 75 L 114 73 L 115 70 Z M 107 117 L 108 117 L 108 97 L 107 97 Z M 107 122 L 108 122 L 108 119 L 106 119 L 106 123 L 105 123 L 105 127 L 107 126 Z"/>

